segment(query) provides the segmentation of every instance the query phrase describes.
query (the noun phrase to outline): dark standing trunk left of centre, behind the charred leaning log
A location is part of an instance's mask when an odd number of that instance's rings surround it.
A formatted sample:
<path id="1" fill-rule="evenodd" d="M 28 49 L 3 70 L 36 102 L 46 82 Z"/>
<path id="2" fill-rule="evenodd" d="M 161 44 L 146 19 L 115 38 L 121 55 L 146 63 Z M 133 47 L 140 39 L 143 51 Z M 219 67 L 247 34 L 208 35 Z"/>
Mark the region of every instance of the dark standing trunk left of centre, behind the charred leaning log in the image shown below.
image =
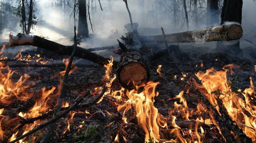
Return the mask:
<path id="1" fill-rule="evenodd" d="M 89 37 L 87 15 L 86 15 L 86 0 L 78 0 L 79 20 L 78 20 L 78 36 L 83 38 Z"/>

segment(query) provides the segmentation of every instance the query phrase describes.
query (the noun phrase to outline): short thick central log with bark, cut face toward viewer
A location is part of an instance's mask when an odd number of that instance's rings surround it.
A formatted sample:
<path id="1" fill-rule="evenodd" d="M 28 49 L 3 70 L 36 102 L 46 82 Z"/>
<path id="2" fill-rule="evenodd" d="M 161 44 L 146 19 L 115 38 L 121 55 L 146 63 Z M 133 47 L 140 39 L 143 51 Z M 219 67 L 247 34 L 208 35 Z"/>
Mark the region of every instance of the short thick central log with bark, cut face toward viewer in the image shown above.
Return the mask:
<path id="1" fill-rule="evenodd" d="M 123 87 L 134 89 L 134 83 L 141 85 L 150 78 L 149 69 L 137 52 L 125 52 L 118 63 L 118 80 Z"/>

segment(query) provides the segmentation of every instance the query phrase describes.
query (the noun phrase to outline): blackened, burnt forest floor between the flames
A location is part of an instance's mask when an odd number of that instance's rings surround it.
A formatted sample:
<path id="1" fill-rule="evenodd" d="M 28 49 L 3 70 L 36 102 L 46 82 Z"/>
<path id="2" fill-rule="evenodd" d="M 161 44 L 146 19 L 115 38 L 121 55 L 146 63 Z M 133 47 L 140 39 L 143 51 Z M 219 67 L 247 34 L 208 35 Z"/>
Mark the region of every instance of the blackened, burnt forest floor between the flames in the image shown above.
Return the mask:
<path id="1" fill-rule="evenodd" d="M 197 77 L 195 76 L 195 73 L 198 71 L 205 72 L 211 67 L 213 67 L 215 70 L 222 70 L 222 67 L 224 65 L 234 64 L 240 66 L 240 68 L 232 69 L 234 71 L 233 75 L 228 73 L 228 79 L 230 80 L 237 76 L 240 77 L 239 81 L 234 82 L 234 86 L 242 90 L 244 90 L 245 88 L 249 88 L 249 77 L 252 77 L 255 83 L 256 74 L 254 72 L 254 65 L 256 64 L 256 59 L 255 57 L 253 57 L 255 53 L 254 49 L 249 49 L 252 50 L 252 52 L 251 56 L 248 57 L 242 57 L 239 56 L 239 54 L 237 54 L 237 56 L 231 56 L 225 53 L 208 52 L 208 50 L 205 48 L 193 46 L 189 48 L 180 47 L 180 49 L 180 52 L 173 53 L 171 58 L 169 56 L 161 57 L 153 61 L 151 63 L 152 66 L 150 66 L 150 80 L 154 82 L 160 82 L 160 84 L 156 88 L 156 91 L 159 92 L 159 95 L 155 97 L 154 105 L 158 109 L 158 112 L 161 113 L 164 117 L 168 117 L 168 109 L 174 108 L 174 102 L 178 101 L 167 101 L 167 99 L 178 95 L 182 90 L 186 91 L 187 88 L 185 86 L 187 85 L 187 81 L 189 81 L 191 78 L 194 78 L 198 81 Z M 22 54 L 31 54 L 31 51 L 28 53 L 23 52 Z M 47 61 L 52 57 L 47 57 L 44 60 Z M 62 58 L 67 58 L 67 56 L 58 57 L 56 59 L 53 58 L 51 62 L 60 62 Z M 15 62 L 17 62 L 17 64 L 20 63 L 20 61 L 5 61 L 5 64 L 9 65 Z M 202 67 L 200 66 L 201 63 L 203 64 Z M 159 74 L 156 72 L 158 65 L 162 65 L 162 77 L 159 77 Z M 41 96 L 41 90 L 43 87 L 51 89 L 53 86 L 58 87 L 60 85 L 59 72 L 65 70 L 65 67 L 19 67 L 10 69 L 15 70 L 18 73 L 12 76 L 13 81 L 17 81 L 24 73 L 30 76 L 29 80 L 24 84 L 30 85 L 30 87 L 27 88 L 26 91 L 32 93 L 33 97 L 29 99 L 29 102 L 14 101 L 5 109 L 9 108 L 10 110 L 25 113 L 27 109 L 31 108 L 37 101 L 37 99 Z M 64 101 L 70 102 L 70 105 L 72 105 L 72 101 L 76 99 L 79 93 L 84 92 L 87 89 L 93 89 L 95 87 L 103 86 L 104 82 L 102 81 L 102 78 L 105 74 L 105 70 L 105 68 L 99 67 L 97 65 L 77 64 L 77 70 L 75 70 L 68 76 L 67 91 Z M 113 74 L 115 72 L 116 71 L 114 68 Z M 184 78 L 184 80 L 181 80 L 181 77 L 183 77 L 181 72 L 187 74 L 187 77 Z M 175 75 L 177 76 L 177 78 L 174 78 Z M 113 82 L 112 88 L 121 88 L 117 79 Z M 58 96 L 56 94 L 57 91 L 55 90 L 54 93 L 50 95 L 50 100 L 47 102 L 48 106 L 50 106 L 50 109 L 54 109 L 54 105 L 56 105 L 57 103 Z M 187 93 L 184 93 L 183 96 L 187 100 L 189 108 L 197 108 L 197 105 L 195 104 L 195 102 L 197 102 L 197 99 Z M 88 97 L 85 99 L 84 102 L 89 102 L 93 98 L 94 96 Z M 106 126 L 112 122 L 114 118 L 113 116 L 118 115 L 117 105 L 113 101 L 103 99 L 102 102 L 95 104 L 90 108 L 80 109 L 80 111 L 77 110 L 76 112 L 85 113 L 85 110 L 89 111 L 88 114 L 82 114 L 86 115 L 86 117 L 74 117 L 74 123 L 70 125 L 70 131 L 65 134 L 63 134 L 63 131 L 67 128 L 67 120 L 70 118 L 70 116 L 67 115 L 64 118 L 61 118 L 61 120 L 57 122 L 57 127 L 54 130 L 54 133 L 51 135 L 49 142 L 98 143 L 102 140 L 104 136 L 106 136 L 109 130 L 115 129 L 115 127 L 113 126 L 118 126 L 117 122 L 114 123 L 116 125 L 111 125 L 111 128 Z M 108 115 L 105 110 L 113 114 Z M 183 120 L 179 113 L 175 113 L 175 115 L 177 117 L 176 121 Z M 119 119 L 120 117 L 116 118 Z M 191 119 L 192 118 L 196 119 L 197 117 L 191 117 Z M 48 119 L 50 119 L 50 117 Z M 84 123 L 82 123 L 83 121 Z M 80 128 L 78 127 L 80 125 L 83 126 Z M 8 131 L 9 129 L 4 130 Z M 141 129 L 141 127 L 137 125 L 136 119 L 130 121 L 128 125 L 124 128 L 124 131 L 127 134 L 123 134 L 123 136 L 128 140 L 128 142 L 144 142 L 143 129 Z M 35 133 L 34 136 L 37 137 L 36 142 L 39 142 L 42 137 L 44 137 L 46 132 L 47 128 Z M 189 136 L 188 129 L 183 129 L 183 132 L 185 133 L 185 137 Z M 206 129 L 205 134 L 206 135 L 204 142 L 224 142 L 216 127 L 212 129 Z M 171 138 L 171 136 L 166 136 L 169 139 Z M 112 136 L 112 138 L 114 137 L 115 135 Z M 124 139 L 121 135 L 119 135 L 119 141 L 124 142 Z"/>

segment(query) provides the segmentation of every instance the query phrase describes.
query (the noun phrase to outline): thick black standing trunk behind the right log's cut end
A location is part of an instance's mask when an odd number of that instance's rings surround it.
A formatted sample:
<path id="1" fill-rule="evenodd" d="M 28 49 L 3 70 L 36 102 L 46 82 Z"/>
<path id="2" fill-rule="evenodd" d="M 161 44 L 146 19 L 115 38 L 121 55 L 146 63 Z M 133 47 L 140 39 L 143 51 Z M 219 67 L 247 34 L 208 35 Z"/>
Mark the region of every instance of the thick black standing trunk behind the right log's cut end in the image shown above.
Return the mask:
<path id="1" fill-rule="evenodd" d="M 242 22 L 242 0 L 224 0 L 223 7 L 221 12 L 221 25 L 224 25 L 225 22 Z M 232 41 L 232 42 L 218 42 L 217 50 L 223 49 L 223 52 L 237 54 L 241 51 L 240 49 L 240 41 Z"/>

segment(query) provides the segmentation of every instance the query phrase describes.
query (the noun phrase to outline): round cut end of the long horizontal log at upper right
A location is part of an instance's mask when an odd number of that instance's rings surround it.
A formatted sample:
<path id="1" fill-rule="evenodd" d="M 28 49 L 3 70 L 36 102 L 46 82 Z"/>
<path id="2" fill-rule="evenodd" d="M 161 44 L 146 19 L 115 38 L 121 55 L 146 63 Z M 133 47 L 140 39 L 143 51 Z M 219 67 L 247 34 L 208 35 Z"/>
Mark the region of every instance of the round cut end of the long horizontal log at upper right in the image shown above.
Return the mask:
<path id="1" fill-rule="evenodd" d="M 232 24 L 228 27 L 228 38 L 232 40 L 237 40 L 242 38 L 243 36 L 243 29 L 241 25 Z"/>

